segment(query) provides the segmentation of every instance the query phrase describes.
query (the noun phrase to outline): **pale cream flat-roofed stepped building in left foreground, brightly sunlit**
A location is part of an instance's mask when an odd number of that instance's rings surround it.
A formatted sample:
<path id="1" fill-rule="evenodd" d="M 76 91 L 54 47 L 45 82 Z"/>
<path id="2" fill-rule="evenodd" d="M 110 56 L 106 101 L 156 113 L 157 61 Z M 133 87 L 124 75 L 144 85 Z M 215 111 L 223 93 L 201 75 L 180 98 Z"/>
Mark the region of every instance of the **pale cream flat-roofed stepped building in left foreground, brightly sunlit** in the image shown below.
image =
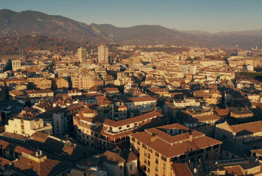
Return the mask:
<path id="1" fill-rule="evenodd" d="M 36 131 L 52 134 L 52 126 L 45 124 L 43 119 L 16 116 L 8 120 L 8 124 L 5 125 L 5 131 L 29 136 Z"/>

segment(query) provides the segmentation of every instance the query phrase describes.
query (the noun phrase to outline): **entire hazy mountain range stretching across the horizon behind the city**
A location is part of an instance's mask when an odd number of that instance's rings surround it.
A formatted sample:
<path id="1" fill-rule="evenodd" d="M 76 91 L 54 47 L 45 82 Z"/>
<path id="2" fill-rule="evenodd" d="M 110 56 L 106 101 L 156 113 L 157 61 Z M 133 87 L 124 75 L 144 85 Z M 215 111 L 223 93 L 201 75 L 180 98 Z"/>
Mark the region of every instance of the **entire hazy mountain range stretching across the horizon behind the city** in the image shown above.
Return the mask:
<path id="1" fill-rule="evenodd" d="M 119 43 L 136 45 L 179 46 L 262 46 L 262 29 L 208 33 L 178 31 L 160 25 L 115 27 L 111 24 L 90 25 L 59 15 L 36 11 L 0 10 L 0 36 L 45 35 L 87 43 Z"/>

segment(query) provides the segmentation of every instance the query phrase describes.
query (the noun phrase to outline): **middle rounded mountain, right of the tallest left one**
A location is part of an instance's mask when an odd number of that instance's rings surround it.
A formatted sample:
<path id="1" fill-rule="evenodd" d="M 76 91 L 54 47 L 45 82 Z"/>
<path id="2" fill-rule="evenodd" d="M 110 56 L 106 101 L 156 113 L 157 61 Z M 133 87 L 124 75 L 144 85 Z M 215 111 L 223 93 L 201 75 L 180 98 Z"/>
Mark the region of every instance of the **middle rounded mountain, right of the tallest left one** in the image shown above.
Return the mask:
<path id="1" fill-rule="evenodd" d="M 160 25 L 139 25 L 132 27 L 115 27 L 111 24 L 90 24 L 104 36 L 115 42 L 134 44 L 180 44 L 194 45 L 204 42 L 198 36 L 173 31 Z"/>

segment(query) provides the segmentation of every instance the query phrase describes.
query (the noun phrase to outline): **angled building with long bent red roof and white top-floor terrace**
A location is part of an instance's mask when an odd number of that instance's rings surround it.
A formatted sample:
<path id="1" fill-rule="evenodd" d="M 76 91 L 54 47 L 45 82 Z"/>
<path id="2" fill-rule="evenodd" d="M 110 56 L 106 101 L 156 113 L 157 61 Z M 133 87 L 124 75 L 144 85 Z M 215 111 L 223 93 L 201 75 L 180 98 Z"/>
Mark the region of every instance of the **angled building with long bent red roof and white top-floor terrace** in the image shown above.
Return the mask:
<path id="1" fill-rule="evenodd" d="M 129 147 L 128 134 L 133 131 L 143 131 L 145 128 L 168 124 L 158 111 L 151 111 L 123 120 L 110 120 L 103 117 L 90 118 L 79 112 L 74 116 L 75 138 L 91 147 L 100 150 Z"/>

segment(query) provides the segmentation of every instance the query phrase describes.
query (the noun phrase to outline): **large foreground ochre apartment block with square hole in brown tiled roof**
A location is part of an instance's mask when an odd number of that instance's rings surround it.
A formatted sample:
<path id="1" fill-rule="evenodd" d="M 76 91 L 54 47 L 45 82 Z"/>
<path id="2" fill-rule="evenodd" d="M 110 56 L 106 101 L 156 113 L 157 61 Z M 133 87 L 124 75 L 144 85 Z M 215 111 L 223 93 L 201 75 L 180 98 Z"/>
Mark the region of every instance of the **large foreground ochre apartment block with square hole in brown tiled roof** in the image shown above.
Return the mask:
<path id="1" fill-rule="evenodd" d="M 132 133 L 130 148 L 146 175 L 173 175 L 171 164 L 219 158 L 222 142 L 189 128 L 171 124 Z"/>

